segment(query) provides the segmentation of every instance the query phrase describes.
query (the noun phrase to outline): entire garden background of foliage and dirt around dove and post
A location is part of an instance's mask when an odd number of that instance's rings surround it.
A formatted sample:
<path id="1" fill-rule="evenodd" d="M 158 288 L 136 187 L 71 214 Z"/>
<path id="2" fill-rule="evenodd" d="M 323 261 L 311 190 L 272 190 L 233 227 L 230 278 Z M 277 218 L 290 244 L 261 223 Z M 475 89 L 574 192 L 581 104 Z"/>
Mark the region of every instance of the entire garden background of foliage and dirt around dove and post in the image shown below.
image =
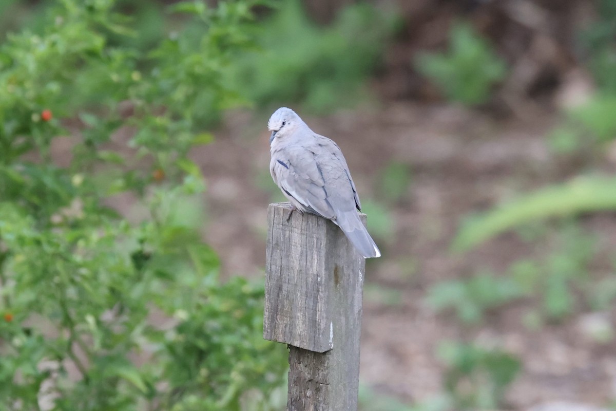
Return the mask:
<path id="1" fill-rule="evenodd" d="M 284 409 L 281 106 L 383 252 L 362 411 L 616 409 L 615 0 L 4 0 L 0 43 L 6 409 Z"/>

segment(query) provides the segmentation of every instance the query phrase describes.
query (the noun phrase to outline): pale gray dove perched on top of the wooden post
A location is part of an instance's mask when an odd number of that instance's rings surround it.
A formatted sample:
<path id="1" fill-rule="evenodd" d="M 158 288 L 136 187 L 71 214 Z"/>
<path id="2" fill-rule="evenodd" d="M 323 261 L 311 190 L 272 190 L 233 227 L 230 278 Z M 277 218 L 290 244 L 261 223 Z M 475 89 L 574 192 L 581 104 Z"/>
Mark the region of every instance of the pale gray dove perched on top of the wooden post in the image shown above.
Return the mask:
<path id="1" fill-rule="evenodd" d="M 291 205 L 333 221 L 365 258 L 380 257 L 357 213 L 359 196 L 338 145 L 286 107 L 272 114 L 267 128 L 272 131 L 270 173 Z"/>

